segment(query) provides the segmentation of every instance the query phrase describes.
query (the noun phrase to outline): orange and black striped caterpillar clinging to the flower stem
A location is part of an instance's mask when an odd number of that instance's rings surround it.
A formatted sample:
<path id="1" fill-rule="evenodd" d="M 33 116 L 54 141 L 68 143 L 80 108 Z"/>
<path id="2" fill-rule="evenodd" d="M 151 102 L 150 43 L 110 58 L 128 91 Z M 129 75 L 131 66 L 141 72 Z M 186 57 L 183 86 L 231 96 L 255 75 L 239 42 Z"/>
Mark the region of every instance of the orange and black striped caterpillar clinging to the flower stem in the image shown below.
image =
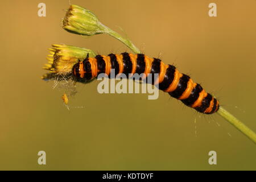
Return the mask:
<path id="1" fill-rule="evenodd" d="M 159 89 L 168 92 L 170 96 L 181 100 L 185 105 L 192 107 L 204 114 L 213 114 L 219 108 L 219 103 L 211 94 L 205 92 L 201 85 L 185 74 L 180 73 L 174 65 L 166 65 L 160 59 L 150 58 L 142 53 L 131 54 L 121 53 L 108 56 L 97 55 L 96 57 L 86 57 L 73 65 L 72 74 L 79 82 L 84 82 L 96 78 L 100 73 L 105 73 L 110 77 L 110 69 L 115 70 L 115 75 L 123 73 L 148 73 L 159 74 Z M 154 84 L 154 83 L 153 83 Z M 155 82 L 156 84 L 156 82 Z"/>

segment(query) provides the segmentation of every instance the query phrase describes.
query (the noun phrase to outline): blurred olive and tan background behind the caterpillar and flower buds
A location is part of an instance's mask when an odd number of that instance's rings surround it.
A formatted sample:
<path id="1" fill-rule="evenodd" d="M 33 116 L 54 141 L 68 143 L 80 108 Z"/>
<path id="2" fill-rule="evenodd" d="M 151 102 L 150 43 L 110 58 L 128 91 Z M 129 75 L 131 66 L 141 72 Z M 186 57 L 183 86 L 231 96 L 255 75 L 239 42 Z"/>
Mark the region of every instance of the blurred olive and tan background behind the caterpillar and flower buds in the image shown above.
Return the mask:
<path id="1" fill-rule="evenodd" d="M 38 4 L 46 3 L 46 17 Z M 208 16 L 210 2 L 217 17 Z M 256 1 L 78 1 L 148 56 L 175 64 L 256 131 Z M 203 115 L 159 92 L 99 94 L 98 82 L 63 90 L 40 79 L 47 48 L 69 44 L 106 55 L 129 51 L 107 35 L 61 28 L 69 1 L 1 2 L 2 170 L 255 170 L 256 147 L 218 114 Z M 122 30 L 120 30 L 121 27 Z M 196 119 L 196 123 L 195 123 Z M 47 164 L 38 164 L 38 151 Z M 208 152 L 217 152 L 209 165 Z"/>

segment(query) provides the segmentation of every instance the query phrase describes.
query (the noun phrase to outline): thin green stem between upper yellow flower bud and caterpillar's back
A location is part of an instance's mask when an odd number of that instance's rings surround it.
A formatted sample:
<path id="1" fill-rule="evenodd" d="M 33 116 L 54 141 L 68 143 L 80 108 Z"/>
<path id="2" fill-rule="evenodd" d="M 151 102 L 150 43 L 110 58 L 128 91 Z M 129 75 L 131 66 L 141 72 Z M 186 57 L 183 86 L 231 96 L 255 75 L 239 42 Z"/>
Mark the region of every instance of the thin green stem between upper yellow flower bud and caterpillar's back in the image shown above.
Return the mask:
<path id="1" fill-rule="evenodd" d="M 101 24 L 101 25 L 104 26 L 104 24 Z M 110 36 L 113 36 L 113 38 L 118 39 L 123 44 L 125 44 L 127 47 L 129 47 L 131 49 L 131 51 L 133 51 L 134 53 L 141 53 L 141 51 L 136 46 L 134 46 L 134 44 L 129 39 L 123 38 L 121 35 L 119 35 L 115 31 L 113 31 L 109 27 L 104 26 L 104 28 L 105 28 L 105 30 L 104 30 L 105 34 L 108 34 Z"/>

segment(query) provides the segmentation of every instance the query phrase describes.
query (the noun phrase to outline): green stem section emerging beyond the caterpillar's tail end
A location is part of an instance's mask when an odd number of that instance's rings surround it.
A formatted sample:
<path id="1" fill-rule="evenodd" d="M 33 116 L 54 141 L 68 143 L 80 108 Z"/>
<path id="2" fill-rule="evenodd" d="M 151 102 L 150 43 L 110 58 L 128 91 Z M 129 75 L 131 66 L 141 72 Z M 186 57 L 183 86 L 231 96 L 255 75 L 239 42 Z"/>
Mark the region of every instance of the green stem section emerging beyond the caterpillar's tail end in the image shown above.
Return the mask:
<path id="1" fill-rule="evenodd" d="M 250 138 L 251 140 L 253 140 L 254 143 L 256 143 L 256 134 L 253 130 L 249 129 L 249 127 L 247 127 L 245 124 L 243 124 L 221 106 L 220 109 L 218 109 L 217 113 L 220 114 L 222 118 L 226 119 L 226 121 L 231 123 L 238 130 L 240 130 L 243 134 L 245 134 L 246 137 Z"/>

